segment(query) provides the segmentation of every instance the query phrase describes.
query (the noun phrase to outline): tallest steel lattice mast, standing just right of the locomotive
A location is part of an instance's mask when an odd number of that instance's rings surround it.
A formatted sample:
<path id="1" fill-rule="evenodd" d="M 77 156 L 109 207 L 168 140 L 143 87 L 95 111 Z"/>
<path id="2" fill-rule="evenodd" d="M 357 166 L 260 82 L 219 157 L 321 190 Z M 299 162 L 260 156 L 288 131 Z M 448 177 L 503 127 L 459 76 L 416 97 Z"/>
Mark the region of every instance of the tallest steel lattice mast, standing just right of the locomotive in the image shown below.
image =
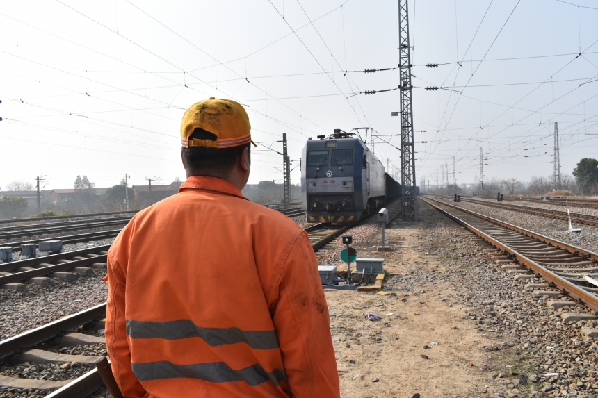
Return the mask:
<path id="1" fill-rule="evenodd" d="M 409 45 L 409 17 L 407 0 L 398 1 L 399 63 L 401 81 L 401 188 L 403 190 L 403 219 L 417 221 L 415 201 L 415 147 L 413 137 L 413 103 L 411 85 L 411 47 Z"/>

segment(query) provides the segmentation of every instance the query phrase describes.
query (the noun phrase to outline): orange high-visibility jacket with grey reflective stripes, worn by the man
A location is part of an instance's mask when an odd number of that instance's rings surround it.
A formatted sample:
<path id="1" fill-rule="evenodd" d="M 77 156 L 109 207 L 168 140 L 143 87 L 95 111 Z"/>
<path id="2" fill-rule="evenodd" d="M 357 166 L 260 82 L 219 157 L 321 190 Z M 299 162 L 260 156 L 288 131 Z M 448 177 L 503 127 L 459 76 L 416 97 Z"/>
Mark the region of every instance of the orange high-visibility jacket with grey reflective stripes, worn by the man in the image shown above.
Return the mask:
<path id="1" fill-rule="evenodd" d="M 189 177 L 108 252 L 106 345 L 137 397 L 340 397 L 328 306 L 307 233 Z"/>

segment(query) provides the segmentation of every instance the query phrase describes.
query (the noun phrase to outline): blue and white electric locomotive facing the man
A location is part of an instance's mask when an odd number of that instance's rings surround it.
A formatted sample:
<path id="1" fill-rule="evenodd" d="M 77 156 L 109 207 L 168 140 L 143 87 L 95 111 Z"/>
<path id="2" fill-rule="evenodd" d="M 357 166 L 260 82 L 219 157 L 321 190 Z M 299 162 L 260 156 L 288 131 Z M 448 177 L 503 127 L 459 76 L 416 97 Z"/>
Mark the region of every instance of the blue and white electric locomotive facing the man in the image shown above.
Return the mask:
<path id="1" fill-rule="evenodd" d="M 355 222 L 401 194 L 401 184 L 351 133 L 308 140 L 301 157 L 302 208 L 308 222 Z"/>

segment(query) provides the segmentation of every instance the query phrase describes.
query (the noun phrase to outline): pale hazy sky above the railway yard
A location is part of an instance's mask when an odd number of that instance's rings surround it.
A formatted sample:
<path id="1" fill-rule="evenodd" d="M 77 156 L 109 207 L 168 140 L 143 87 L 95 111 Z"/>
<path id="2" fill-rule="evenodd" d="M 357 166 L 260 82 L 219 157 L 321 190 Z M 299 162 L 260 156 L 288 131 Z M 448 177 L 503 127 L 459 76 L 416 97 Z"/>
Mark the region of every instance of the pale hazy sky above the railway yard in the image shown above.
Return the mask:
<path id="1" fill-rule="evenodd" d="M 184 179 L 181 116 L 208 97 L 243 103 L 253 139 L 275 151 L 287 133 L 293 165 L 308 137 L 334 128 L 399 133 L 398 90 L 359 94 L 399 84 L 398 69 L 362 72 L 396 68 L 398 1 L 1 4 L 0 187 L 38 175 L 46 189 L 72 188 L 77 174 L 102 188 L 125 173 L 134 185 Z M 486 179 L 551 175 L 554 122 L 563 173 L 598 157 L 598 1 L 409 8 L 414 128 L 427 131 L 415 133 L 427 142 L 418 183 L 444 164 L 452 174 L 453 156 L 457 182 L 473 183 L 480 146 Z M 391 145 L 375 153 L 399 165 Z M 252 160 L 250 183 L 282 182 L 282 156 L 260 146 Z"/>

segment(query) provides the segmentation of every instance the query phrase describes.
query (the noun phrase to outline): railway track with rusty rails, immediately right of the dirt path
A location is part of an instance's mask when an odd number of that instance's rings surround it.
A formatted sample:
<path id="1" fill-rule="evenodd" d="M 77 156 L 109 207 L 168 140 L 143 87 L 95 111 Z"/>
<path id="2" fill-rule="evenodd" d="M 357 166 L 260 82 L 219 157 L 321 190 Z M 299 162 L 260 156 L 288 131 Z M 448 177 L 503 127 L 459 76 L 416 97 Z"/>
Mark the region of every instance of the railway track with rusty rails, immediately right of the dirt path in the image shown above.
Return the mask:
<path id="1" fill-rule="evenodd" d="M 583 303 L 598 311 L 598 285 L 590 282 L 598 278 L 597 253 L 443 201 L 429 197 L 419 199 L 478 235 L 489 248 L 499 249 L 506 262 L 516 260 L 524 265 L 504 266 L 511 272 L 522 274 L 520 278 L 541 277 L 547 281 L 547 284 L 535 286 L 538 290 L 534 295 L 559 297 L 567 294 L 576 301 L 567 301 L 563 306 Z"/>

